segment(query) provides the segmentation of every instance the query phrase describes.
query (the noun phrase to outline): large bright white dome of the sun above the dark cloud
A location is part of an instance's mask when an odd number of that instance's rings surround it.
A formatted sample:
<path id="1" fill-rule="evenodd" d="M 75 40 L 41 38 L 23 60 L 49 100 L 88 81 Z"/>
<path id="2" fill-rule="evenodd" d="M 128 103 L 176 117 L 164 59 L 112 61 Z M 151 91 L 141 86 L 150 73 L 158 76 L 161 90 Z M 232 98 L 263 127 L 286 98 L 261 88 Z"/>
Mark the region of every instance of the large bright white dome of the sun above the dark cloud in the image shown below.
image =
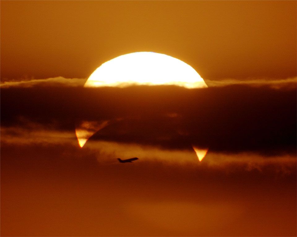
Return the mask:
<path id="1" fill-rule="evenodd" d="M 185 62 L 161 53 L 129 53 L 103 63 L 84 87 L 128 87 L 132 85 L 176 85 L 207 87 L 200 75 Z"/>

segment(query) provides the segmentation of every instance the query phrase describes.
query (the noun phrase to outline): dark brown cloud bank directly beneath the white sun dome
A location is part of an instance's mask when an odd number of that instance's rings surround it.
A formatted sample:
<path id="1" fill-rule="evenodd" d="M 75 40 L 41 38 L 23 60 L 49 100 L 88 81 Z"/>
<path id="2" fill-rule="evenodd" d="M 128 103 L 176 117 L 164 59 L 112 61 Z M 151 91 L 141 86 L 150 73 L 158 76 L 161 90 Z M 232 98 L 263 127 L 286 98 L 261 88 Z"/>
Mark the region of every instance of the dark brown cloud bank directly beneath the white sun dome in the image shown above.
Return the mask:
<path id="1" fill-rule="evenodd" d="M 26 126 L 20 118 L 69 131 L 83 120 L 109 120 L 91 140 L 296 153 L 296 88 L 2 88 L 2 127 Z"/>

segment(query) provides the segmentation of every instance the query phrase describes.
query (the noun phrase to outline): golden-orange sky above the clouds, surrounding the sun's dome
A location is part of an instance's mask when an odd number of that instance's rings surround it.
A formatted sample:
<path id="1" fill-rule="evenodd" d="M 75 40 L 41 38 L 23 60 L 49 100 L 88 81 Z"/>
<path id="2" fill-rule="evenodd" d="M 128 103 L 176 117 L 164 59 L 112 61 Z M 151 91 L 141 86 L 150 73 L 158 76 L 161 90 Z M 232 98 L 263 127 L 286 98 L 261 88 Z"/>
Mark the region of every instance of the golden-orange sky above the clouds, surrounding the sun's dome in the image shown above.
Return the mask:
<path id="1" fill-rule="evenodd" d="M 296 76 L 296 1 L 1 1 L 1 79 L 87 78 L 116 56 L 206 79 Z"/>

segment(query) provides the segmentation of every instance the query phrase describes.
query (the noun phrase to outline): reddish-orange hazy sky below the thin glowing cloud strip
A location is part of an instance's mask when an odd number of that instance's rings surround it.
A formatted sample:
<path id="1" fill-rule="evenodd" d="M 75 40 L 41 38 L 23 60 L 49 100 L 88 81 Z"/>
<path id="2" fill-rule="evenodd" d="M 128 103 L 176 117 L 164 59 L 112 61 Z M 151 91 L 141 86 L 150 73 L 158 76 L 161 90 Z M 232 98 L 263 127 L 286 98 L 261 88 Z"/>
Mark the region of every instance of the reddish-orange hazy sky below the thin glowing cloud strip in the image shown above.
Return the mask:
<path id="1" fill-rule="evenodd" d="M 143 157 L 122 164 L 98 144 L 73 146 L 74 137 L 26 146 L 5 140 L 1 236 L 296 235 L 294 157 L 283 165 L 237 163 L 243 154 L 221 165 Z"/>

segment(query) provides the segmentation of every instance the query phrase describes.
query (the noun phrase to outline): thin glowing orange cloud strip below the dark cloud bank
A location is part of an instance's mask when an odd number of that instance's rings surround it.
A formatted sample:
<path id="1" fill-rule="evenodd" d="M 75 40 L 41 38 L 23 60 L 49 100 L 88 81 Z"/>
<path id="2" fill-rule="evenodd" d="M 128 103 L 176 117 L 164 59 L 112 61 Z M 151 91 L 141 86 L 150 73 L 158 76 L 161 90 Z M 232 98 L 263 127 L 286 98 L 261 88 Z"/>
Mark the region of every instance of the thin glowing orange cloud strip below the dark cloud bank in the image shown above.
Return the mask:
<path id="1" fill-rule="evenodd" d="M 191 169 L 200 171 L 213 169 L 215 172 L 221 170 L 228 173 L 241 170 L 291 174 L 296 167 L 294 154 L 280 153 L 266 156 L 258 152 L 224 153 L 210 150 L 202 162 L 199 162 L 191 147 L 168 149 L 161 145 L 91 139 L 83 148 L 80 148 L 74 131 L 59 131 L 32 122 L 23 123 L 22 126 L 1 127 L 1 148 L 5 151 L 11 147 L 16 150 L 25 149 L 28 152 L 40 148 L 54 149 L 64 155 L 61 159 L 92 158 L 103 165 L 116 164 L 116 158 L 129 159 L 137 156 L 140 158 L 137 163 L 140 162 L 143 165 L 151 162 L 166 166 L 190 165 Z"/>

